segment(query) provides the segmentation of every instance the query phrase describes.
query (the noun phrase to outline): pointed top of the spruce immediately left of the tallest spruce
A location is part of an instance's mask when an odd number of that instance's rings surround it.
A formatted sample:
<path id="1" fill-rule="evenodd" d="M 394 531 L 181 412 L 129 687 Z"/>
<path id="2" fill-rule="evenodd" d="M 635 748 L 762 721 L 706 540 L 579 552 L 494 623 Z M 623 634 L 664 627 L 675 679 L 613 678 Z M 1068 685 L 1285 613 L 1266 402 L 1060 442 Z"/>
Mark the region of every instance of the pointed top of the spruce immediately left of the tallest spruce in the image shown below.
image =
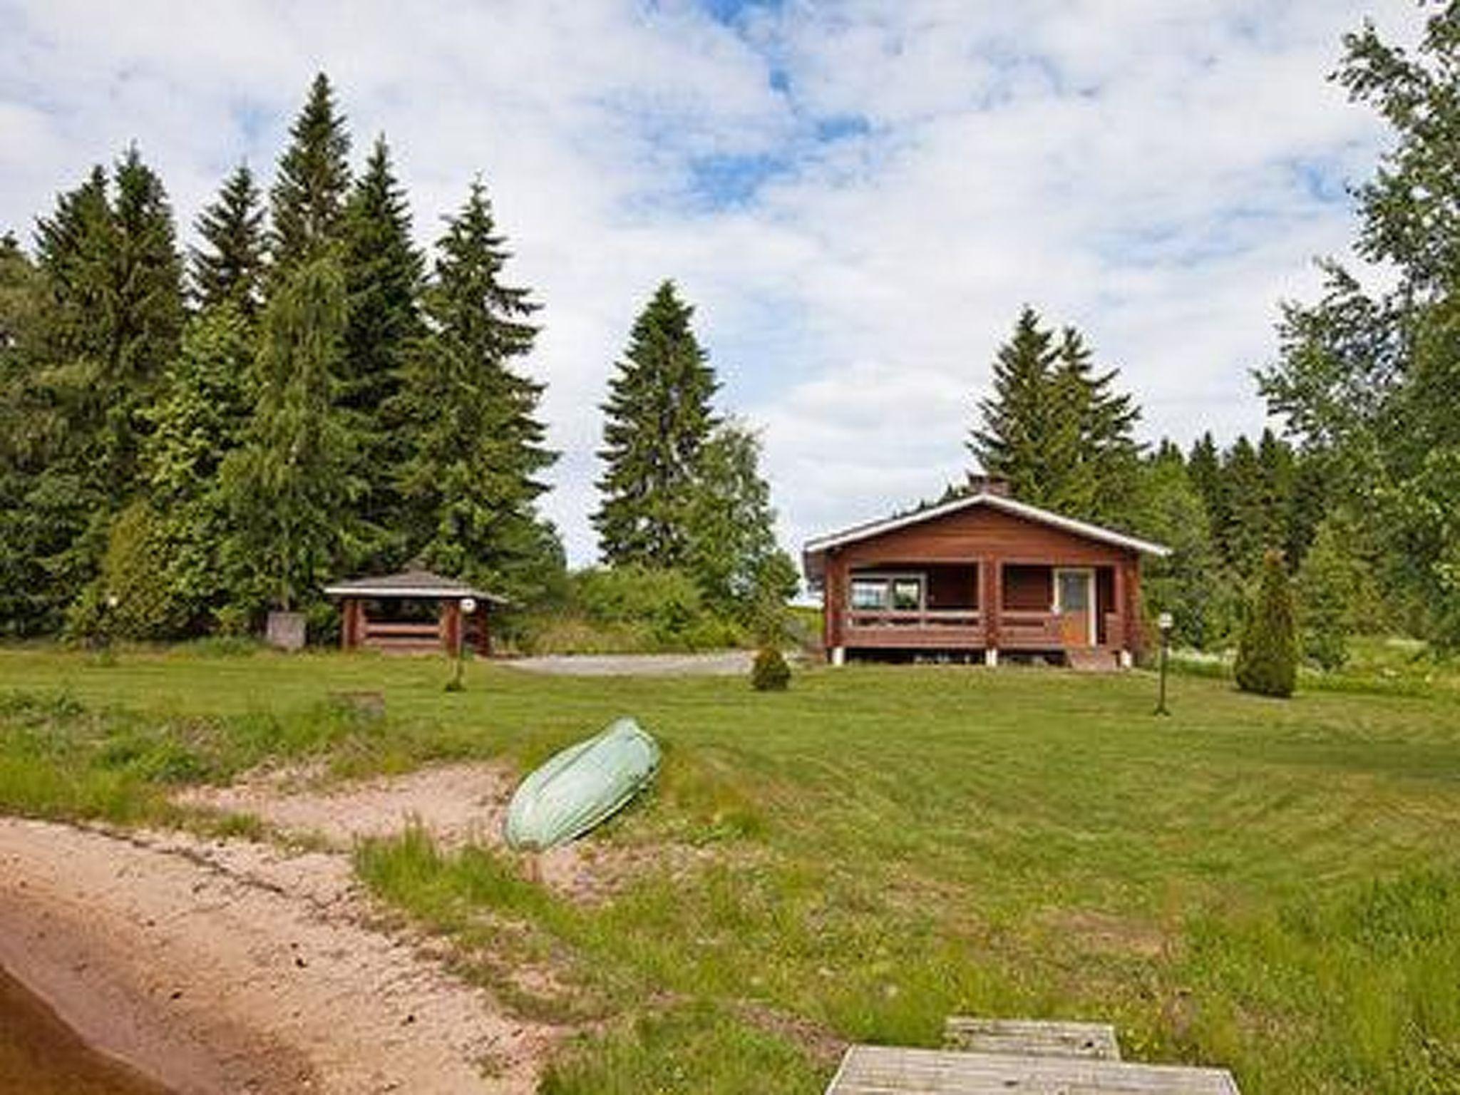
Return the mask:
<path id="1" fill-rule="evenodd" d="M 193 296 L 201 308 L 232 304 L 245 318 L 258 310 L 264 270 L 264 210 L 247 164 L 197 219 L 201 247 L 191 248 Z"/>

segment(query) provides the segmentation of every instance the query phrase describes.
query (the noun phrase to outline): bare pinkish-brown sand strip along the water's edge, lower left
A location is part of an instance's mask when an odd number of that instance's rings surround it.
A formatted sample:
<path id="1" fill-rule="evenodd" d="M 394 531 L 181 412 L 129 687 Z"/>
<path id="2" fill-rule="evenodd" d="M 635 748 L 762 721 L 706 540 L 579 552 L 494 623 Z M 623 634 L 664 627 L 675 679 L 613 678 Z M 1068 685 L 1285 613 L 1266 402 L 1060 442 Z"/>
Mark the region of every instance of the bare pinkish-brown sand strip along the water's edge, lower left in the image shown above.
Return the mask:
<path id="1" fill-rule="evenodd" d="M 244 841 L 0 819 L 0 965 L 184 1095 L 530 1092 L 552 1041 L 368 927 L 345 857 Z"/>

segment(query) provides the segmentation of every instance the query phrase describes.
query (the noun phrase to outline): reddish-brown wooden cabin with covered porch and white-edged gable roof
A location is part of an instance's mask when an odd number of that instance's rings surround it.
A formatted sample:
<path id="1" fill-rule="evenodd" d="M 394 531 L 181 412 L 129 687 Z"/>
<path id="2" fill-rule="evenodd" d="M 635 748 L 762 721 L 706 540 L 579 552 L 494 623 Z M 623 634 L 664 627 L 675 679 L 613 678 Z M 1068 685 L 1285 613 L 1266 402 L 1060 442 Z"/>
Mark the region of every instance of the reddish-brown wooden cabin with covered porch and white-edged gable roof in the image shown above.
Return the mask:
<path id="1" fill-rule="evenodd" d="M 1140 558 L 1167 548 L 1015 501 L 996 483 L 806 543 L 826 654 L 1000 651 L 1127 666 L 1142 647 Z"/>

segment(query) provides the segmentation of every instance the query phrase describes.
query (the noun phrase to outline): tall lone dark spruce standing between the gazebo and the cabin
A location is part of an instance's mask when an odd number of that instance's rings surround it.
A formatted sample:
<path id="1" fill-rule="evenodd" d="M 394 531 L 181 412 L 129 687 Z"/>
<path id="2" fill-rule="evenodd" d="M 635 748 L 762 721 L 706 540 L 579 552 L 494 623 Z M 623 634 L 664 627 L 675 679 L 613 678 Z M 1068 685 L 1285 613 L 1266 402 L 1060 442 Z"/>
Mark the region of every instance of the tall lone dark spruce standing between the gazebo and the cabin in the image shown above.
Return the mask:
<path id="1" fill-rule="evenodd" d="M 593 515 L 599 550 L 615 566 L 672 568 L 689 561 L 705 442 L 717 425 L 718 381 L 691 327 L 694 308 L 664 282 L 634 323 L 603 404 L 603 501 Z"/>

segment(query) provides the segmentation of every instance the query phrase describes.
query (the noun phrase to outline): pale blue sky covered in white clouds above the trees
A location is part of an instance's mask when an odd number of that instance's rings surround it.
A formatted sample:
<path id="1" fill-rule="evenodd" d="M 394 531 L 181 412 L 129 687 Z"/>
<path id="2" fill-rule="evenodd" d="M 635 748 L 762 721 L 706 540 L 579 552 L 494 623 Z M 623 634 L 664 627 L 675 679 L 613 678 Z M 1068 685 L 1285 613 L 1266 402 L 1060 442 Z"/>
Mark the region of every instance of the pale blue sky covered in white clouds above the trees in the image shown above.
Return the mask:
<path id="1" fill-rule="evenodd" d="M 1023 302 L 1186 442 L 1352 237 L 1384 133 L 1327 82 L 1410 0 L 0 0 L 0 231 L 128 142 L 184 226 L 328 72 L 428 242 L 477 172 L 545 305 L 549 515 L 593 558 L 597 404 L 663 277 L 762 431 L 788 548 L 940 492 Z"/>

